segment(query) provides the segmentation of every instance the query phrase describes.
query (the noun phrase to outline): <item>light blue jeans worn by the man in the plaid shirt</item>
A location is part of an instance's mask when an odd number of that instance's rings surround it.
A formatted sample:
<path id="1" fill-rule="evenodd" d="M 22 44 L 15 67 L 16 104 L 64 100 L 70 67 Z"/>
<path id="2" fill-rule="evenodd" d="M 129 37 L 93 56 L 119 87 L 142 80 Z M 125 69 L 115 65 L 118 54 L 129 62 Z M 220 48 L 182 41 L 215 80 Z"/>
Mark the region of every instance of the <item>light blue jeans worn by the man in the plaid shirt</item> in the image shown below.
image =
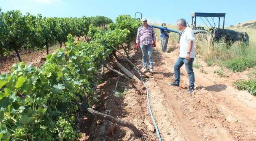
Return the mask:
<path id="1" fill-rule="evenodd" d="M 141 47 L 142 51 L 142 63 L 144 68 L 147 67 L 147 59 L 146 59 L 146 54 L 148 55 L 148 61 L 149 61 L 149 67 L 150 69 L 153 69 L 153 60 L 152 60 L 152 44 L 149 45 L 139 45 Z"/>

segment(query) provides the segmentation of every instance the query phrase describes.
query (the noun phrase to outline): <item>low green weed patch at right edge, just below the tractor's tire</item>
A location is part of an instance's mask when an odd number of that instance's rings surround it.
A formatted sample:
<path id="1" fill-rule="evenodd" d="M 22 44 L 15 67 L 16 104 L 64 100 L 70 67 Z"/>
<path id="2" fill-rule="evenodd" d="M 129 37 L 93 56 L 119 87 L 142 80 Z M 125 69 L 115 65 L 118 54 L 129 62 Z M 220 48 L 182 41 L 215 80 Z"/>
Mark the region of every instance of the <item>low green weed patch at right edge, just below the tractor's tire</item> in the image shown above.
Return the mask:
<path id="1" fill-rule="evenodd" d="M 255 65 L 255 58 L 236 58 L 234 60 L 226 61 L 226 67 L 234 72 L 245 71 L 245 69 L 254 67 Z"/>

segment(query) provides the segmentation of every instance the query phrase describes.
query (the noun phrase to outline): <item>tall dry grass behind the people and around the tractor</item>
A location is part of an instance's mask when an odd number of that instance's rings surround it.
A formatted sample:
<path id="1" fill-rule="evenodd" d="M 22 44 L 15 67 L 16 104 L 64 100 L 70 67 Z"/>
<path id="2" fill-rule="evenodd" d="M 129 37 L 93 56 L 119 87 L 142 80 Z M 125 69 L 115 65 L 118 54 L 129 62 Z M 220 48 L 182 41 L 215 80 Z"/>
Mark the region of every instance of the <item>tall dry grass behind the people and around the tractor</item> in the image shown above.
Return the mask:
<path id="1" fill-rule="evenodd" d="M 161 26 L 161 23 L 149 24 Z M 167 24 L 167 28 L 178 31 L 177 26 L 173 24 Z M 221 40 L 219 42 L 213 41 L 210 35 L 195 35 L 195 53 L 200 54 L 201 58 L 206 62 L 211 61 L 223 63 L 223 61 L 234 60 L 237 58 L 256 58 L 256 29 L 239 29 L 230 27 L 229 29 L 246 32 L 250 38 L 249 45 L 238 42 L 235 42 L 232 45 L 227 45 L 225 40 Z M 154 31 L 156 33 L 157 42 L 161 43 L 160 29 L 155 28 Z M 174 48 L 176 43 L 178 43 L 179 38 L 177 33 L 170 33 L 169 36 L 170 38 L 167 50 Z M 161 50 L 161 47 L 159 47 L 159 50 Z"/>

